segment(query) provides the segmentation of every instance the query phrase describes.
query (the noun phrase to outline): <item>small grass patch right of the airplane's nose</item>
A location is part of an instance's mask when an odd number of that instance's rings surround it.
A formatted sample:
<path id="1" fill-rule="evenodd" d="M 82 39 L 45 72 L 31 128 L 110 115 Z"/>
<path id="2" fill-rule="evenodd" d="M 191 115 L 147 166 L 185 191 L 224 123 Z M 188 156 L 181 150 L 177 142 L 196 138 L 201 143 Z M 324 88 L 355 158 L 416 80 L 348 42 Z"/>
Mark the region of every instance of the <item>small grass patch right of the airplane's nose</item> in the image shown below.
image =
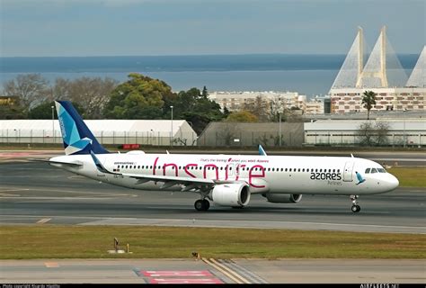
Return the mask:
<path id="1" fill-rule="evenodd" d="M 395 175 L 402 187 L 426 187 L 426 167 L 398 167 L 387 169 L 387 172 Z"/>

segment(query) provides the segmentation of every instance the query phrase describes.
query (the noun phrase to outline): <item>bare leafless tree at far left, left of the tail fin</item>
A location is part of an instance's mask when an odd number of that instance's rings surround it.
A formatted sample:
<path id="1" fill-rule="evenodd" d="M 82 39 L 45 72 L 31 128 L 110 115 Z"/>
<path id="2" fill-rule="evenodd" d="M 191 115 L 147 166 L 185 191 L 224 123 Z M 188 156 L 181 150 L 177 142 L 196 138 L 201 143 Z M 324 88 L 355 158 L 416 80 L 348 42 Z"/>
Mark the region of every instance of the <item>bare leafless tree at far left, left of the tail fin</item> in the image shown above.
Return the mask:
<path id="1" fill-rule="evenodd" d="M 19 98 L 23 112 L 28 112 L 51 96 L 49 82 L 40 74 L 18 75 L 15 79 L 6 81 L 3 86 L 4 95 Z"/>

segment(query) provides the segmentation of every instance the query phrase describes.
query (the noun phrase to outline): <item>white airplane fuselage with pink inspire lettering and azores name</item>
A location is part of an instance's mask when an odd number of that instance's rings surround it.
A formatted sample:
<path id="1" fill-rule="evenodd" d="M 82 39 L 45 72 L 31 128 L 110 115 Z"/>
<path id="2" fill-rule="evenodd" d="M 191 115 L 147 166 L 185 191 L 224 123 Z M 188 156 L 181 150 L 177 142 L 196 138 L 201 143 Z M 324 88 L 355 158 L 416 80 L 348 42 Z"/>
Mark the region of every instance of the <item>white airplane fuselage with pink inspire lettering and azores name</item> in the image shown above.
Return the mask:
<path id="1" fill-rule="evenodd" d="M 386 193 L 398 185 L 395 176 L 386 173 L 382 166 L 358 157 L 145 154 L 138 151 L 97 157 L 105 168 L 117 174 L 99 171 L 89 155 L 51 160 L 82 163 L 82 166 L 52 165 L 104 183 L 140 190 L 181 191 L 182 186 L 164 187 L 161 182 L 141 182 L 126 175 L 165 175 L 223 183 L 241 181 L 249 184 L 250 193 L 362 195 Z M 385 172 L 366 173 L 368 168 Z M 362 175 L 362 182 L 357 173 Z"/>

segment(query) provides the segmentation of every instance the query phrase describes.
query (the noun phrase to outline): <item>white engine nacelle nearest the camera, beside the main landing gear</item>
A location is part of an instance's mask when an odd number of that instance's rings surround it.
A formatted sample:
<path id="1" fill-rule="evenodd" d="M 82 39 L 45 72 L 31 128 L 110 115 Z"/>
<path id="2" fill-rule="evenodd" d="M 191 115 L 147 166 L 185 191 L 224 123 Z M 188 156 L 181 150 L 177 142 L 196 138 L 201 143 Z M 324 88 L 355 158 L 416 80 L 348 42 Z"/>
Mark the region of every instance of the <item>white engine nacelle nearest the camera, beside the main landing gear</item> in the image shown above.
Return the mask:
<path id="1" fill-rule="evenodd" d="M 244 207 L 250 202 L 247 184 L 219 184 L 211 192 L 213 202 L 221 206 Z"/>

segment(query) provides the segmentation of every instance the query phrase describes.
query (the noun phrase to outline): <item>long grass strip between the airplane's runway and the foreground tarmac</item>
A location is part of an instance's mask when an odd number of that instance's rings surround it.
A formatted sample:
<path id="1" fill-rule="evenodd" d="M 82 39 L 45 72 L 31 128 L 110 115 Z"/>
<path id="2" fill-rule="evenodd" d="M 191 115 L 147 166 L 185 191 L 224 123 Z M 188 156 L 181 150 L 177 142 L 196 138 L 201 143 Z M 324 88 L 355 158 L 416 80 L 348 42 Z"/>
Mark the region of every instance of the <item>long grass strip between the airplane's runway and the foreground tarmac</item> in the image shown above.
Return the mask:
<path id="1" fill-rule="evenodd" d="M 1 226 L 1 259 L 426 258 L 426 235 L 117 226 Z M 113 238 L 133 254 L 113 256 Z"/>

